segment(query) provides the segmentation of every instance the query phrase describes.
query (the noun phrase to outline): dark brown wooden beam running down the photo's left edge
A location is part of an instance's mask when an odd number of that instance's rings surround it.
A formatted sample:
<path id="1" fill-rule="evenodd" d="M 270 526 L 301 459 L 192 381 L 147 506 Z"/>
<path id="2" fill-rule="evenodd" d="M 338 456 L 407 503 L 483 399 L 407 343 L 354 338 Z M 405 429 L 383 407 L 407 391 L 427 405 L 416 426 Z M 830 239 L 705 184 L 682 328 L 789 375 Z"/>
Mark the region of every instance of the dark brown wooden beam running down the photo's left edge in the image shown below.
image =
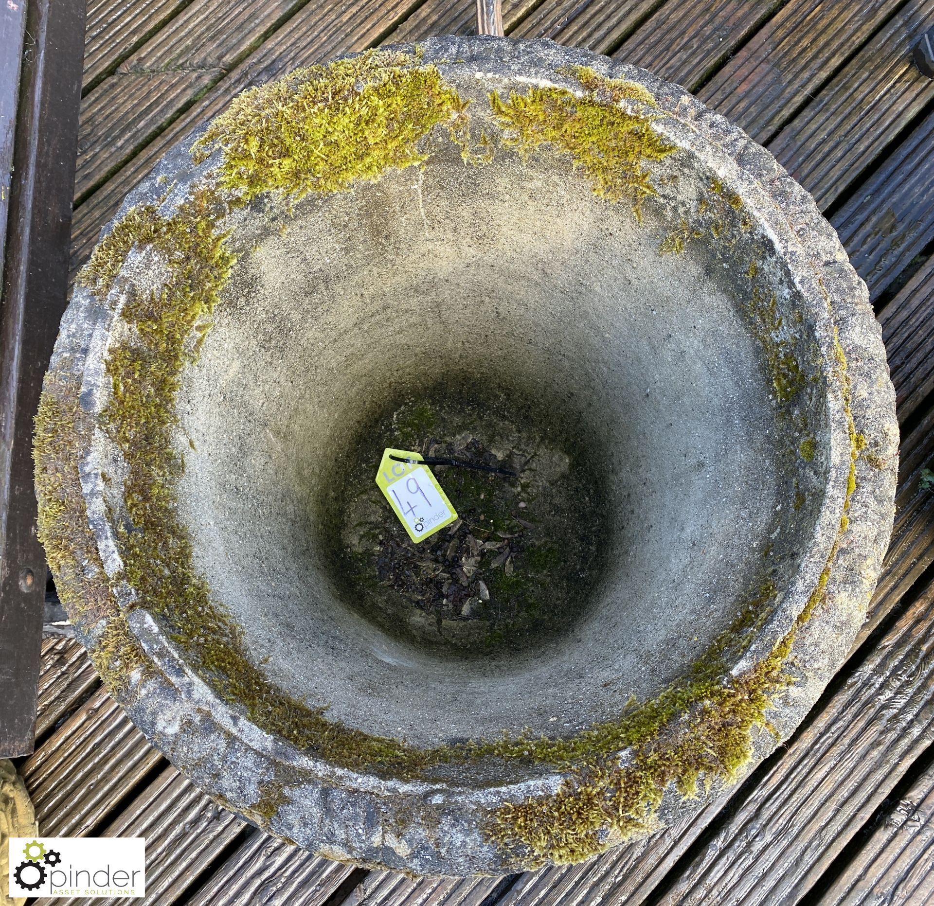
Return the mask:
<path id="1" fill-rule="evenodd" d="M 29 0 L 3 53 L 6 76 L 22 48 L 0 308 L 0 757 L 33 751 L 46 590 L 33 420 L 65 307 L 83 42 L 84 0 Z"/>

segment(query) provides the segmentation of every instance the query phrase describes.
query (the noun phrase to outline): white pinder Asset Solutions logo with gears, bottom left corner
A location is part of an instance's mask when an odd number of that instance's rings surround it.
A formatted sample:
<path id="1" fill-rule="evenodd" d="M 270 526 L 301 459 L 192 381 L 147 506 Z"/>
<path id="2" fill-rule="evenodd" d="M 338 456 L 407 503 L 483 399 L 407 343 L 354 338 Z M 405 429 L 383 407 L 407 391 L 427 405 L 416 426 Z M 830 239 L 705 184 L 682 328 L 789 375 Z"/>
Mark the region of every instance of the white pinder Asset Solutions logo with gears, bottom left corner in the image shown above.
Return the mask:
<path id="1" fill-rule="evenodd" d="M 11 837 L 10 897 L 146 895 L 143 837 Z"/>

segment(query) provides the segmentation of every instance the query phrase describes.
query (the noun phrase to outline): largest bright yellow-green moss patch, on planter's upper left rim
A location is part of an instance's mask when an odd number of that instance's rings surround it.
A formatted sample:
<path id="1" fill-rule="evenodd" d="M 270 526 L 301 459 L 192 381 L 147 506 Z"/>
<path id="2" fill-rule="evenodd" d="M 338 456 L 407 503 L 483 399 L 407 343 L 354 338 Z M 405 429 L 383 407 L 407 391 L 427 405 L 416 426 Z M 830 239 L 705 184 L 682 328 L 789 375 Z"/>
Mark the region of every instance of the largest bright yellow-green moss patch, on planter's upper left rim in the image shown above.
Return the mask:
<path id="1" fill-rule="evenodd" d="M 424 163 L 417 142 L 438 124 L 465 144 L 466 106 L 436 66 L 369 50 L 239 94 L 192 150 L 202 161 L 222 149 L 220 185 L 246 200 L 265 191 L 295 200 Z"/>

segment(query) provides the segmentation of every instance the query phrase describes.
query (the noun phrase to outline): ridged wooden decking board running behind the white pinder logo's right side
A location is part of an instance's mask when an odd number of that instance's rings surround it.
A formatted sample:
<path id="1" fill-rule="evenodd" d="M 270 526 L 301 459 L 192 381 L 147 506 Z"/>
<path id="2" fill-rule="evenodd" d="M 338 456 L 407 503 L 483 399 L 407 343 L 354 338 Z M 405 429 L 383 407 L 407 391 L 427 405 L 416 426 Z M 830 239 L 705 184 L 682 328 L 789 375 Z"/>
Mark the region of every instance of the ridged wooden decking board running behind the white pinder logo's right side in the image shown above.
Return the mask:
<path id="1" fill-rule="evenodd" d="M 245 822 L 209 800 L 171 765 L 101 834 L 146 838 L 146 902 L 174 903 Z M 122 899 L 37 899 L 43 906 L 120 906 Z"/>

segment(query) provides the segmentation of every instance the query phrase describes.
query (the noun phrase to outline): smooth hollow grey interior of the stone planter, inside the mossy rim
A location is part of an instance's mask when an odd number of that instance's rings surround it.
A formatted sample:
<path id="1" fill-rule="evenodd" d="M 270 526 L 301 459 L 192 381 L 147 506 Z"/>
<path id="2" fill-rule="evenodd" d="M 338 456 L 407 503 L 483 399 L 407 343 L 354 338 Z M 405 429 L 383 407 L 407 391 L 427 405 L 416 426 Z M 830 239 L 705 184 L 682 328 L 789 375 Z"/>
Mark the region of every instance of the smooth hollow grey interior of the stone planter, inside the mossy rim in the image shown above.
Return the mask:
<path id="1" fill-rule="evenodd" d="M 672 155 L 656 182 L 683 203 L 711 176 Z M 656 694 L 750 603 L 775 606 L 823 503 L 823 384 L 802 391 L 805 434 L 750 326 L 753 263 L 792 323 L 781 263 L 739 210 L 728 252 L 708 236 L 661 253 L 663 196 L 640 222 L 552 156 L 474 167 L 450 147 L 292 213 L 248 212 L 184 375 L 178 501 L 271 680 L 419 745 L 570 733 Z M 482 619 L 426 611 L 378 572 L 403 537 L 380 454 L 432 440 L 520 467 L 461 497 L 466 473 L 437 473 L 474 541 L 522 536 L 508 582 L 491 565 L 505 547 L 480 556 Z"/>

